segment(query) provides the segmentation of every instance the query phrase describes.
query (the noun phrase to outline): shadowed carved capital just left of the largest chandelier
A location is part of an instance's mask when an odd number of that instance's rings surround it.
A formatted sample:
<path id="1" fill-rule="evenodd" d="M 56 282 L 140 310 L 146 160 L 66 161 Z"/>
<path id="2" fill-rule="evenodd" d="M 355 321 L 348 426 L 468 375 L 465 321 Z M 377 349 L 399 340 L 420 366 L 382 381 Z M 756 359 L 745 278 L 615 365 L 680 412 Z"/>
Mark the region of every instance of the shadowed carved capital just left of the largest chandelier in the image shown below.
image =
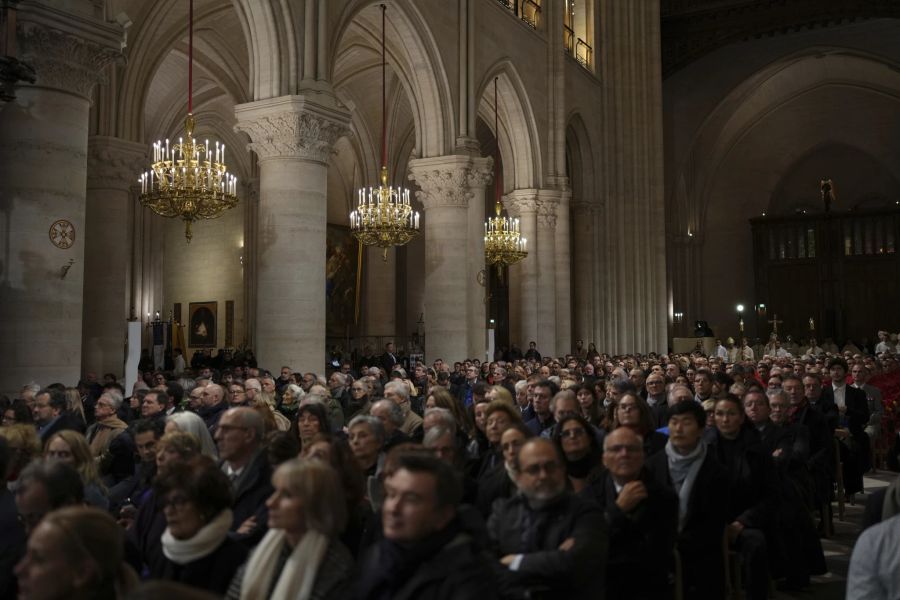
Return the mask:
<path id="1" fill-rule="evenodd" d="M 88 189 L 131 188 L 147 170 L 147 148 L 118 138 L 93 136 L 88 140 Z"/>

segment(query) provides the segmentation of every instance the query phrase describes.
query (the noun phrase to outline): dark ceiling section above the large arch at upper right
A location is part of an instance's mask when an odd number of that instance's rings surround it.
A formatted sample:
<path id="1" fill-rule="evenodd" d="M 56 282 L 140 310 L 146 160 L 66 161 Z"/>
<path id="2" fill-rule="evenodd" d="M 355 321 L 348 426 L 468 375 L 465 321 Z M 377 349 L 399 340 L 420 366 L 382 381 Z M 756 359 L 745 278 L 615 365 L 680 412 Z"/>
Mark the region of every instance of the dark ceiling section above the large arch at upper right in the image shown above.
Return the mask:
<path id="1" fill-rule="evenodd" d="M 661 0 L 663 77 L 731 42 L 900 18 L 897 0 Z"/>

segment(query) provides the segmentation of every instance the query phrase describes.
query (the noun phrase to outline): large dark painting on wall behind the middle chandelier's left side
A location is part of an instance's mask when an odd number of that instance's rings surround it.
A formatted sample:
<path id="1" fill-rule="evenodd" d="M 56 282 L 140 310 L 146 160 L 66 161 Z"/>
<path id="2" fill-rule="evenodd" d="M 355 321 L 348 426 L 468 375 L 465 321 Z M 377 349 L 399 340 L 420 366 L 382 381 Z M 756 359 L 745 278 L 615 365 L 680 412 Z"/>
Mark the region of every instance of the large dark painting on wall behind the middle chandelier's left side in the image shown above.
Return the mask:
<path id="1" fill-rule="evenodd" d="M 358 242 L 348 227 L 328 225 L 325 250 L 325 327 L 328 337 L 346 336 L 355 323 Z"/>

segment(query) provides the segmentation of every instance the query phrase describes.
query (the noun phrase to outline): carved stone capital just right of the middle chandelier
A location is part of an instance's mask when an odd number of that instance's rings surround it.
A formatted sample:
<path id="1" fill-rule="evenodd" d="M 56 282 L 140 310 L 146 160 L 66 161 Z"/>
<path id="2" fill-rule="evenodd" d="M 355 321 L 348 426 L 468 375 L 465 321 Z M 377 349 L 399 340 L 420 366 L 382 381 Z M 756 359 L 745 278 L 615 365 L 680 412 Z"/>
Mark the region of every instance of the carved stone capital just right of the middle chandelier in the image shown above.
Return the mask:
<path id="1" fill-rule="evenodd" d="M 409 179 L 419 186 L 416 198 L 425 210 L 439 206 L 467 207 L 475 192 L 492 180 L 490 158 L 463 155 L 419 158 L 409 162 Z"/>

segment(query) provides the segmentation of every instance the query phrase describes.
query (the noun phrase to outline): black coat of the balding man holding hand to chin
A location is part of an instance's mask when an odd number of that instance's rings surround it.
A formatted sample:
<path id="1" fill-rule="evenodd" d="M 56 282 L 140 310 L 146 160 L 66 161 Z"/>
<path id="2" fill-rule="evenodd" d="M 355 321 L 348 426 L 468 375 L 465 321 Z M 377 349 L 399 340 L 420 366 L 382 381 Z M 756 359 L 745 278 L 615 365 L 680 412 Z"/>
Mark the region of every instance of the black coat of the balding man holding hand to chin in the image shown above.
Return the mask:
<path id="1" fill-rule="evenodd" d="M 616 504 L 619 494 L 609 471 L 594 479 L 581 496 L 603 510 L 609 526 L 606 600 L 657 600 L 672 595 L 669 573 L 678 536 L 678 497 L 644 471 L 647 498 L 630 512 Z"/>

